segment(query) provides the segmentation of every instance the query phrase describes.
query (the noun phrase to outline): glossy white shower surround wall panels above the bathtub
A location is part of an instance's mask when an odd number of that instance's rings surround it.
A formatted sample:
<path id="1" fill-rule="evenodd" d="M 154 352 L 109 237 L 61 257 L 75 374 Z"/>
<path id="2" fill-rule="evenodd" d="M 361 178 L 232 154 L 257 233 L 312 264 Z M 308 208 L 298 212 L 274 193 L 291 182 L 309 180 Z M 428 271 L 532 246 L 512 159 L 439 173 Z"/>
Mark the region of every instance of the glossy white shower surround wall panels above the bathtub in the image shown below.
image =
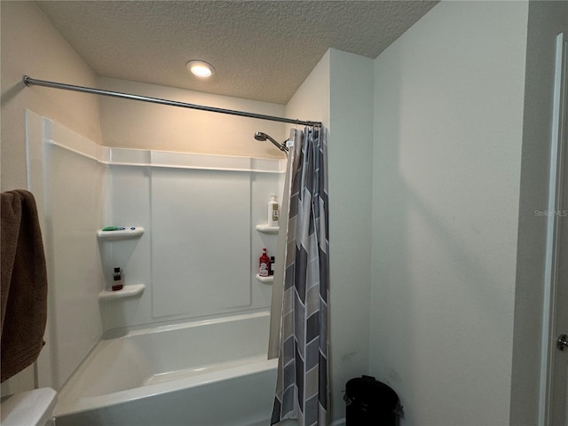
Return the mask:
<path id="1" fill-rule="evenodd" d="M 41 386 L 59 389 L 122 327 L 268 309 L 272 285 L 256 268 L 276 235 L 256 225 L 282 193 L 286 160 L 108 148 L 29 111 L 27 128 L 50 278 Z M 98 238 L 107 225 L 145 231 Z M 114 267 L 143 291 L 101 297 Z"/>

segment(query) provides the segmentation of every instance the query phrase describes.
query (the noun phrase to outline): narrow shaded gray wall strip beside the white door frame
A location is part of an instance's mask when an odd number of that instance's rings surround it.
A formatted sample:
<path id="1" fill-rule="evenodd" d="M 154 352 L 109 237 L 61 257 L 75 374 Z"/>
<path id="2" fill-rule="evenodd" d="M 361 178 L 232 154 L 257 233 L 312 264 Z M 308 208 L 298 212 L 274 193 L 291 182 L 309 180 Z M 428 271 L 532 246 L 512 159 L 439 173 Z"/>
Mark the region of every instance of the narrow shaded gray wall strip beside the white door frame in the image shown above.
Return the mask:
<path id="1" fill-rule="evenodd" d="M 556 35 L 568 3 L 529 3 L 510 424 L 537 424 Z"/>

